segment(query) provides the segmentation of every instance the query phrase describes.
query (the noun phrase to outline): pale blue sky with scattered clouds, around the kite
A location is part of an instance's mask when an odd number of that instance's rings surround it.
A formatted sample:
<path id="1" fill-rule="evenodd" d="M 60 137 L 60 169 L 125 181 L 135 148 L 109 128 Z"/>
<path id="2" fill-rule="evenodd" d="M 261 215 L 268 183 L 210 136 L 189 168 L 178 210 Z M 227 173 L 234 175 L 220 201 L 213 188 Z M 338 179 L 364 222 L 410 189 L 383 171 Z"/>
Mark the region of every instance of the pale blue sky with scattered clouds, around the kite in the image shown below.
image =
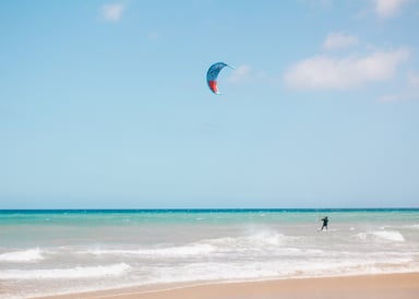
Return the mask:
<path id="1" fill-rule="evenodd" d="M 418 207 L 417 28 L 418 0 L 1 1 L 0 208 Z"/>

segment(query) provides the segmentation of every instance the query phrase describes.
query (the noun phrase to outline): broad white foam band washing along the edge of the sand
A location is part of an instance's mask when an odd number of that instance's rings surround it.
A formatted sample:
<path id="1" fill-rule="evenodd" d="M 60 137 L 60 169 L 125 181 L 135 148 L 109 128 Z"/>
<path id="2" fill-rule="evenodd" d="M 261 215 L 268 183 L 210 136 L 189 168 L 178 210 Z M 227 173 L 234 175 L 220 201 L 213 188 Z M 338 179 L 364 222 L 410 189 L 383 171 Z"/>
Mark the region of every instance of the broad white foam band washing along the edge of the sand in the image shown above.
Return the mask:
<path id="1" fill-rule="evenodd" d="M 289 261 L 255 260 L 246 263 L 197 262 L 191 263 L 184 268 L 154 268 L 146 278 L 147 282 L 144 283 L 300 278 L 393 273 L 396 271 L 404 272 L 405 267 L 408 266 L 408 259 L 393 260 L 385 265 L 376 260 L 367 261 L 362 258 L 346 261 L 339 261 L 338 258 L 332 260 L 324 258 L 311 262 L 295 259 Z"/>

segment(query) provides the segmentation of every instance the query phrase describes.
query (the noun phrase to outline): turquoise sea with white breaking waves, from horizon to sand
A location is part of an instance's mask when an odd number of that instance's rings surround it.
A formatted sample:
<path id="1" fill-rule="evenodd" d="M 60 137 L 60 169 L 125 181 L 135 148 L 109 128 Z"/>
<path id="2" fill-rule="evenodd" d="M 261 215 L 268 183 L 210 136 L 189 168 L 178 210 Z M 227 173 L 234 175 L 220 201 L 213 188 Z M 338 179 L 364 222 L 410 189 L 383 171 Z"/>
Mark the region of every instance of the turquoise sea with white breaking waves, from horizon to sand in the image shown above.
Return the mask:
<path id="1" fill-rule="evenodd" d="M 407 272 L 419 210 L 0 211 L 0 298 Z"/>

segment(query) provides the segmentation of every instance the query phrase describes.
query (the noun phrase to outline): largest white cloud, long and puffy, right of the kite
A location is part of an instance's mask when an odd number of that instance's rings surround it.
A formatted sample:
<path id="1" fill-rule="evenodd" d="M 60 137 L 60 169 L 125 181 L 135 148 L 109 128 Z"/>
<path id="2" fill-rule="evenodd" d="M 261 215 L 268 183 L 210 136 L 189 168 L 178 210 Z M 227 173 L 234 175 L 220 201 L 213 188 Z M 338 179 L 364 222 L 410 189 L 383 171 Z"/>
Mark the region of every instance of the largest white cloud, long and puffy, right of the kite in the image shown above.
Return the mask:
<path id="1" fill-rule="evenodd" d="M 284 81 L 297 89 L 348 89 L 392 79 L 397 67 L 408 58 L 406 48 L 375 51 L 363 57 L 314 56 L 292 65 Z"/>

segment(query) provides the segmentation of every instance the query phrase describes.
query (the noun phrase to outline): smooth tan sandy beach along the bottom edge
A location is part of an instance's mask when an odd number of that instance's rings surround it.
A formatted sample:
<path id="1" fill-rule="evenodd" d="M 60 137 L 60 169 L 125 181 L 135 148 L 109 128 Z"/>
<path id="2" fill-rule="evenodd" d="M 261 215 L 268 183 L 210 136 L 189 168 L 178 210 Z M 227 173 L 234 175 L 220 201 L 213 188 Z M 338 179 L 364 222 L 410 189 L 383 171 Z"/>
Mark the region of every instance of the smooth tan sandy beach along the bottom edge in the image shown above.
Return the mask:
<path id="1" fill-rule="evenodd" d="M 74 292 L 37 299 L 417 299 L 419 272 L 256 282 L 160 285 Z"/>

